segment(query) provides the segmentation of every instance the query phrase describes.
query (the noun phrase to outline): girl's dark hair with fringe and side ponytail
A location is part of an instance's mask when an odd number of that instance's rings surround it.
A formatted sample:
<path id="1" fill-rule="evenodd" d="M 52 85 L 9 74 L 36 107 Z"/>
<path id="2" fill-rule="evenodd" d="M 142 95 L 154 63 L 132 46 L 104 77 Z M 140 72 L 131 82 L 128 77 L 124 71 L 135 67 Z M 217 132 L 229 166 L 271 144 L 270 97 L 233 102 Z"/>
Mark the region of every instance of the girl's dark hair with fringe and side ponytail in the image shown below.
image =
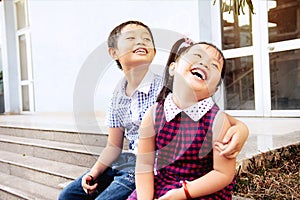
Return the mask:
<path id="1" fill-rule="evenodd" d="M 226 71 L 226 62 L 225 62 L 225 57 L 219 48 L 217 48 L 215 45 L 208 43 L 208 42 L 193 43 L 189 39 L 181 38 L 181 39 L 177 40 L 175 42 L 175 44 L 172 46 L 172 49 L 171 49 L 171 52 L 170 52 L 170 55 L 169 55 L 169 58 L 168 58 L 168 61 L 166 64 L 166 68 L 164 71 L 164 85 L 163 85 L 163 88 L 161 89 L 160 93 L 158 94 L 156 102 L 163 101 L 168 96 L 168 94 L 173 91 L 174 77 L 170 76 L 170 74 L 169 74 L 169 67 L 170 67 L 171 63 L 175 62 L 182 54 L 187 52 L 192 46 L 194 46 L 196 44 L 209 45 L 209 46 L 215 48 L 220 53 L 220 55 L 222 56 L 222 59 L 223 59 L 223 68 L 221 71 L 221 79 L 224 78 L 225 71 Z M 218 83 L 218 85 L 220 85 L 220 84 L 221 84 L 221 80 Z"/>

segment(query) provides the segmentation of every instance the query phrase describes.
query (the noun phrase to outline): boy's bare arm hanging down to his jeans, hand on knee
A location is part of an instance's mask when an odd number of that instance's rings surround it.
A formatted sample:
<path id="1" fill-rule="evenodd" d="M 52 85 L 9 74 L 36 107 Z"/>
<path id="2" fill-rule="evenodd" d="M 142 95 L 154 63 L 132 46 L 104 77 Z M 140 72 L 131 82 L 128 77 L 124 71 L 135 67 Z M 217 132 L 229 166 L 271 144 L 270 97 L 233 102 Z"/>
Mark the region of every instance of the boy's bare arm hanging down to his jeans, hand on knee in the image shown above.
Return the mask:
<path id="1" fill-rule="evenodd" d="M 112 164 L 120 155 L 123 149 L 124 131 L 121 128 L 109 128 L 109 135 L 106 147 L 101 152 L 98 160 L 81 181 L 81 185 L 86 193 L 93 193 L 97 184 L 90 185 L 91 177 L 97 179 L 108 166 Z"/>

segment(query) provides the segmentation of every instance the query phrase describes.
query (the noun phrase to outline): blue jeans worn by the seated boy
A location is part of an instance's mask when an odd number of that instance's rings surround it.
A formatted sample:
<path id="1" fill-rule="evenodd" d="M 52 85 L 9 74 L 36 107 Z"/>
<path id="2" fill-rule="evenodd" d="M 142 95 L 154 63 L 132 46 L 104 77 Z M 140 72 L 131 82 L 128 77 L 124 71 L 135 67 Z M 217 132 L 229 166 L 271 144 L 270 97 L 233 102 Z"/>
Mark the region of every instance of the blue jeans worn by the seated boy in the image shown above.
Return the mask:
<path id="1" fill-rule="evenodd" d="M 126 200 L 135 189 L 135 161 L 131 153 L 122 153 L 101 176 L 95 177 L 97 191 L 88 195 L 81 186 L 83 174 L 68 184 L 60 193 L 59 200 Z"/>

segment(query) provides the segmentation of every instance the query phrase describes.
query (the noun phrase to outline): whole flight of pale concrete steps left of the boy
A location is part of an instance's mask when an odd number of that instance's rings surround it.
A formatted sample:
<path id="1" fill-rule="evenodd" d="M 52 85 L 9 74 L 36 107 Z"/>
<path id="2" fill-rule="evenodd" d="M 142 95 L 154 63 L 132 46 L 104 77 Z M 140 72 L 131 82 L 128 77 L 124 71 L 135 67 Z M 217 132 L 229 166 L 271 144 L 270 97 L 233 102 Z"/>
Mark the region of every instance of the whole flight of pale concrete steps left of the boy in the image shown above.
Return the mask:
<path id="1" fill-rule="evenodd" d="M 0 126 L 0 199 L 58 199 L 106 140 L 107 134 Z"/>

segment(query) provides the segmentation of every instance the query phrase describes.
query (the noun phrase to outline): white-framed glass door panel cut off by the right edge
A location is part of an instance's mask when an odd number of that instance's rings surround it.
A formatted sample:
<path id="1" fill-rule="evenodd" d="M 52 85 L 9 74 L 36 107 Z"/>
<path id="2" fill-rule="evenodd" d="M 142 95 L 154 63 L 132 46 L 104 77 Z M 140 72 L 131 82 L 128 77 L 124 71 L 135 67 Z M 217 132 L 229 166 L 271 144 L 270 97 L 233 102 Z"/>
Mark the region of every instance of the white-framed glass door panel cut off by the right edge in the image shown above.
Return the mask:
<path id="1" fill-rule="evenodd" d="M 300 1 L 267 2 L 271 109 L 300 109 Z"/>

